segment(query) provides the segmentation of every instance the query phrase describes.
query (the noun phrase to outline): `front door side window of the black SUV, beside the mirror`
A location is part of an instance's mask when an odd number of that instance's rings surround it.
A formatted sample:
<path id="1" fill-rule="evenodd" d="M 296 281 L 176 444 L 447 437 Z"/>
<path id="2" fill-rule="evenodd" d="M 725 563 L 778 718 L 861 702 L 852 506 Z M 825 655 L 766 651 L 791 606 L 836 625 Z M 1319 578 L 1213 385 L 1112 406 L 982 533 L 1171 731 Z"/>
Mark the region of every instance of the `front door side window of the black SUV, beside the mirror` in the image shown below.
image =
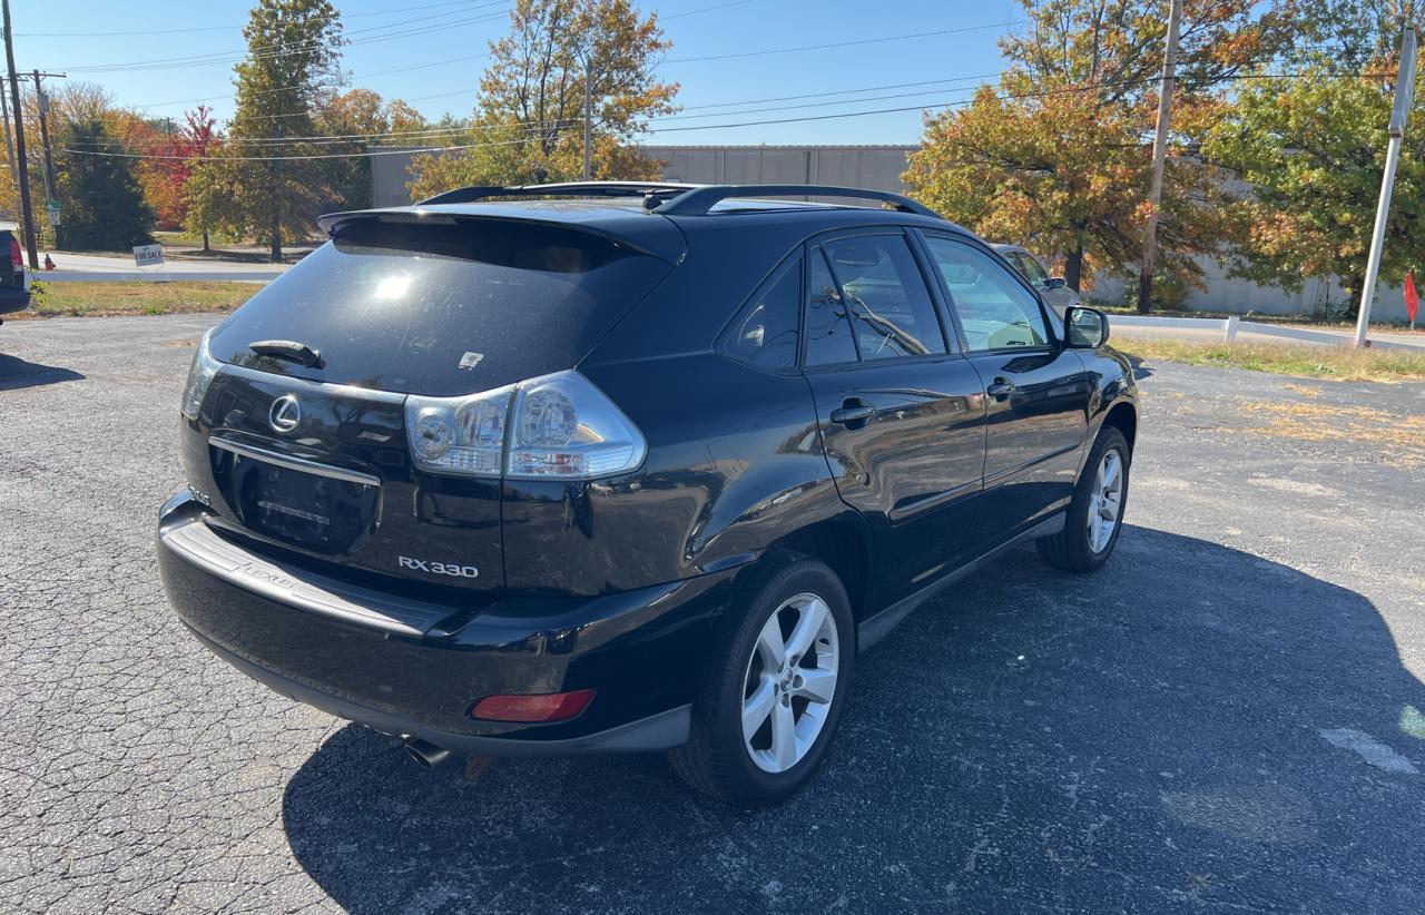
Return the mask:
<path id="1" fill-rule="evenodd" d="M 933 237 L 925 241 L 970 349 L 1049 343 L 1039 301 L 1003 264 L 956 241 Z"/>

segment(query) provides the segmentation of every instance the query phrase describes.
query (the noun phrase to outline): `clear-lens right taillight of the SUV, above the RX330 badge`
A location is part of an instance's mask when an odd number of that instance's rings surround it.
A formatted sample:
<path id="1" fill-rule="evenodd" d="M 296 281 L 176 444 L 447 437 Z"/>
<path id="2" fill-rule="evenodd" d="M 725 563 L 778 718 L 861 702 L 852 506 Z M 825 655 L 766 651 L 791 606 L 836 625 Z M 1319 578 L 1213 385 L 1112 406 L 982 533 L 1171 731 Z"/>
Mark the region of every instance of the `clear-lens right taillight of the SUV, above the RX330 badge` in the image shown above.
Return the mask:
<path id="1" fill-rule="evenodd" d="M 556 372 L 467 398 L 406 398 L 406 433 L 425 470 L 587 480 L 634 470 L 647 443 L 579 372 Z"/>

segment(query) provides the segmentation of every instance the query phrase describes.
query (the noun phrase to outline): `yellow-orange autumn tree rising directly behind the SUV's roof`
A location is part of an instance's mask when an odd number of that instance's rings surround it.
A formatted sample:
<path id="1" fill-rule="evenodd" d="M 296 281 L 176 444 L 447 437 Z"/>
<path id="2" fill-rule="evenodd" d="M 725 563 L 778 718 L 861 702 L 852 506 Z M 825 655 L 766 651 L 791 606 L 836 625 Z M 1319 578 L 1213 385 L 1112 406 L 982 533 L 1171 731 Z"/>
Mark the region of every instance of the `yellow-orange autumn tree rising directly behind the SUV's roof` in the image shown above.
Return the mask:
<path id="1" fill-rule="evenodd" d="M 467 140 L 472 148 L 419 155 L 415 198 L 466 184 L 569 181 L 583 174 L 589 91 L 594 178 L 656 178 L 660 164 L 634 138 L 675 110 L 675 83 L 653 64 L 671 41 L 657 14 L 628 0 L 519 0 L 510 33 L 490 44 Z"/>

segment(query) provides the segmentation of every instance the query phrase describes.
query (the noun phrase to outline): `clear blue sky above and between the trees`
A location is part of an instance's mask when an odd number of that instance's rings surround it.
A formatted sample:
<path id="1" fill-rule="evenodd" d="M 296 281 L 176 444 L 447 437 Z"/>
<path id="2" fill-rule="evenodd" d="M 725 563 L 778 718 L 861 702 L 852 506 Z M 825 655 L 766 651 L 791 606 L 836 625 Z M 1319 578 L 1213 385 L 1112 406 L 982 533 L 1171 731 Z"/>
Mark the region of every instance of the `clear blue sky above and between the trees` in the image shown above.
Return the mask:
<path id="1" fill-rule="evenodd" d="M 640 6 L 658 11 L 673 40 L 658 73 L 681 84 L 678 101 L 687 108 L 657 124 L 663 131 L 646 141 L 680 145 L 915 143 L 921 107 L 966 98 L 975 86 L 993 81 L 1003 67 L 996 40 L 1023 20 L 1015 0 L 643 0 Z M 150 115 L 177 118 L 202 98 L 225 118 L 232 113 L 232 57 L 244 50 L 248 7 L 221 0 L 11 0 L 16 66 L 98 83 L 118 104 Z M 336 7 L 353 41 L 343 50 L 349 86 L 403 97 L 437 117 L 473 108 L 486 60 L 469 58 L 484 54 L 489 40 L 504 33 L 509 1 L 408 0 L 395 9 L 389 1 L 336 0 Z M 121 31 L 147 34 L 83 34 Z M 940 34 L 898 38 L 928 31 Z M 758 53 L 868 38 L 896 40 Z M 131 67 L 207 54 L 215 61 Z M 710 56 L 721 58 L 688 60 Z M 808 94 L 824 95 L 788 98 Z M 708 127 L 881 108 L 908 110 Z"/>

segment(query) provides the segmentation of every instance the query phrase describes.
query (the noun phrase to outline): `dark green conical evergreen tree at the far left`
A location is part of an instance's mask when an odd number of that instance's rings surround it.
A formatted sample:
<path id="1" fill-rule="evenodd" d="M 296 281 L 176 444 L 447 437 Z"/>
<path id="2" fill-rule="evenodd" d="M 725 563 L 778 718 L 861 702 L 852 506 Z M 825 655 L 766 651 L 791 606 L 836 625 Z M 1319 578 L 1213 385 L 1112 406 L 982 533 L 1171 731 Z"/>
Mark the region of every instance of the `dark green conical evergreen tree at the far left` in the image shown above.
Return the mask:
<path id="1" fill-rule="evenodd" d="M 68 123 L 67 152 L 60 161 L 64 195 L 64 244 L 76 251 L 121 251 L 152 241 L 154 211 L 134 174 L 134 160 L 121 155 L 105 121 L 86 117 Z"/>

